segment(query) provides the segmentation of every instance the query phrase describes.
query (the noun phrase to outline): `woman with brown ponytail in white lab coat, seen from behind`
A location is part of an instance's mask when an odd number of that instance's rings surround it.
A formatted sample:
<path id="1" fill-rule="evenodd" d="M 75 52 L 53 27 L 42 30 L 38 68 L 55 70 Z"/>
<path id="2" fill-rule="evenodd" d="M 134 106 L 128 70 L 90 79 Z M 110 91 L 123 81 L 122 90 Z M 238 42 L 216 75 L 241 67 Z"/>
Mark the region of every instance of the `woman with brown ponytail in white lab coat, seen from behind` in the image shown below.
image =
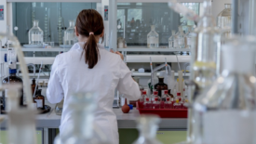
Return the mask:
<path id="1" fill-rule="evenodd" d="M 70 51 L 58 55 L 52 65 L 47 86 L 47 100 L 59 103 L 64 98 L 62 128 L 69 123 L 71 111 L 67 103 L 75 92 L 98 92 L 94 123 L 113 144 L 119 143 L 116 116 L 113 111 L 115 88 L 130 100 L 140 98 L 139 85 L 120 53 L 111 53 L 99 45 L 103 38 L 103 20 L 96 10 L 82 10 L 77 16 L 75 33 L 78 43 Z"/>

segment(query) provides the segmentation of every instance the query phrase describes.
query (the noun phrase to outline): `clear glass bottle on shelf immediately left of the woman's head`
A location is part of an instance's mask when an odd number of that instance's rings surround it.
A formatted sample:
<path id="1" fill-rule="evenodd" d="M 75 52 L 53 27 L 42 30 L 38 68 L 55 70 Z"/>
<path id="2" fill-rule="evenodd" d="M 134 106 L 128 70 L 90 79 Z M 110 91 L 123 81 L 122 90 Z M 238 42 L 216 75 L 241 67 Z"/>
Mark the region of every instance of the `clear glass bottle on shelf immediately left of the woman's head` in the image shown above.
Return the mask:
<path id="1" fill-rule="evenodd" d="M 76 38 L 74 35 L 74 20 L 69 20 L 69 27 L 64 32 L 64 45 L 74 45 Z"/>

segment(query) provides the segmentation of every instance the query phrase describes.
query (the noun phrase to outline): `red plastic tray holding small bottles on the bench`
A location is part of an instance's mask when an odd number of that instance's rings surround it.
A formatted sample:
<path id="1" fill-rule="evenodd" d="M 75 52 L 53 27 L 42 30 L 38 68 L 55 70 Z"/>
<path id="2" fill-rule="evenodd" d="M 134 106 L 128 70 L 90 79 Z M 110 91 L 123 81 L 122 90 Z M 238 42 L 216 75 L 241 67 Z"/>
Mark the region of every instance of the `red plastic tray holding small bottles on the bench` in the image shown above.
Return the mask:
<path id="1" fill-rule="evenodd" d="M 156 114 L 161 118 L 187 118 L 187 109 L 141 109 L 142 103 L 137 102 L 140 114 Z"/>

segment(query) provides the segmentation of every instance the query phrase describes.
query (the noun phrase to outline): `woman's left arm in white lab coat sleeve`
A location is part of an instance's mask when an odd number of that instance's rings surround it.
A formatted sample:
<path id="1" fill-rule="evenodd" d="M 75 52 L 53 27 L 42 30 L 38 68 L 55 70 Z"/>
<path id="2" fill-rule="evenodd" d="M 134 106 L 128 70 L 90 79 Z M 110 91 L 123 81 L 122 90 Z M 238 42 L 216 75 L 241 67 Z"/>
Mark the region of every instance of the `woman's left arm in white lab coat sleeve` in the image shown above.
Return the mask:
<path id="1" fill-rule="evenodd" d="M 59 77 L 58 63 L 59 56 L 53 62 L 50 72 L 50 78 L 47 85 L 47 100 L 50 103 L 59 103 L 64 98 L 63 88 Z"/>

